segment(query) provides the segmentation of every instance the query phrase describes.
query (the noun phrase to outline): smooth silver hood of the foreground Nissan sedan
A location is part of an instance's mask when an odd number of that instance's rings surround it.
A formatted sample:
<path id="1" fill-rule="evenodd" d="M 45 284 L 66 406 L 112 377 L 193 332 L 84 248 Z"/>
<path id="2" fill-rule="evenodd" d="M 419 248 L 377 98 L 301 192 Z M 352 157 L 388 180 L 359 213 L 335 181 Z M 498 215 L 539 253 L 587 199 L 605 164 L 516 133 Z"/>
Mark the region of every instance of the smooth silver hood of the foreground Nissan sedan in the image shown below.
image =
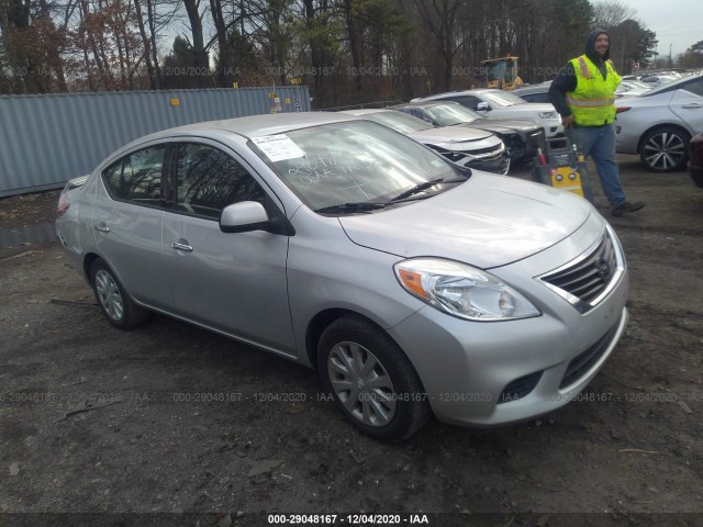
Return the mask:
<path id="1" fill-rule="evenodd" d="M 473 171 L 467 182 L 442 194 L 398 209 L 342 216 L 339 222 L 349 239 L 364 247 L 489 269 L 557 244 L 592 211 L 569 192 Z"/>

